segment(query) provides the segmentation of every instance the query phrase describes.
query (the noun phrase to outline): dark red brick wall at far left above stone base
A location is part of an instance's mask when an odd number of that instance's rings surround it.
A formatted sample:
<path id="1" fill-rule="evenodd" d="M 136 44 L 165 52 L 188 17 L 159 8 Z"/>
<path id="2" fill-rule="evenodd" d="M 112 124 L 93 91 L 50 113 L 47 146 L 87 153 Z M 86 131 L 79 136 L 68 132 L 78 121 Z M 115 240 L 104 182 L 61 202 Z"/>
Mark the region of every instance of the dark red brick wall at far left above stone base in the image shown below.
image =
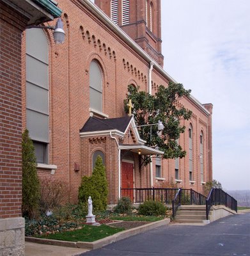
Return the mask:
<path id="1" fill-rule="evenodd" d="M 27 20 L 0 3 L 0 218 L 21 216 L 21 36 Z"/>

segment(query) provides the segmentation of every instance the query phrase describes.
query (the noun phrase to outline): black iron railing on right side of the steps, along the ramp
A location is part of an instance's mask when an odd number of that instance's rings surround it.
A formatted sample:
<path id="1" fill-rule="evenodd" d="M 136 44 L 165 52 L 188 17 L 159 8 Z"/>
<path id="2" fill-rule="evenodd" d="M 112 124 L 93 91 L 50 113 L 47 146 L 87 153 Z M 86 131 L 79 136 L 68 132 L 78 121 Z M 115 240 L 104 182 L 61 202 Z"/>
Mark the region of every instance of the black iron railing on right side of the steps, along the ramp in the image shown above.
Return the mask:
<path id="1" fill-rule="evenodd" d="M 212 205 L 225 205 L 231 210 L 237 212 L 237 200 L 233 196 L 228 195 L 225 191 L 219 188 L 212 188 L 208 194 L 206 200 L 206 217 L 208 220 L 208 215 Z"/>

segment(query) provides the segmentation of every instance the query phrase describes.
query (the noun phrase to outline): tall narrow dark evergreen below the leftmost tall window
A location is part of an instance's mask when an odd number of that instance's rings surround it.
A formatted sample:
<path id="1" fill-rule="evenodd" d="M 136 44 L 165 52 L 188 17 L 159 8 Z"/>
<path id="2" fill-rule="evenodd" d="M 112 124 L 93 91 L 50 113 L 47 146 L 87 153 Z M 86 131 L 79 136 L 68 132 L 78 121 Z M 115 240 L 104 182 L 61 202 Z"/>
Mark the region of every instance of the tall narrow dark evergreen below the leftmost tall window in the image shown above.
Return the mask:
<path id="1" fill-rule="evenodd" d="M 22 134 L 22 215 L 35 218 L 39 200 L 40 182 L 36 172 L 35 148 L 26 129 Z"/>

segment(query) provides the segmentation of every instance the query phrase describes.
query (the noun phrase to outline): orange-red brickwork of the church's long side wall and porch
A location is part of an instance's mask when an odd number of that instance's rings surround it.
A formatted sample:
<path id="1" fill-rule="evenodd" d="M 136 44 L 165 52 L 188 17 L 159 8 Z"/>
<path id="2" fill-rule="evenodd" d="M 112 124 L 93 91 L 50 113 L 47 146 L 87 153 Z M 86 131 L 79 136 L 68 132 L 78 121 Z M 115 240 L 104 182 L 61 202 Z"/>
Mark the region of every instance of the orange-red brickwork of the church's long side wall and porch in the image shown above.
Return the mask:
<path id="1" fill-rule="evenodd" d="M 56 164 L 54 175 L 51 170 L 39 170 L 40 175 L 46 175 L 54 180 L 63 180 L 70 184 L 70 197 L 72 202 L 77 202 L 78 188 L 82 175 L 91 173 L 91 154 L 95 148 L 105 152 L 106 172 L 109 184 L 109 202 L 114 203 L 118 196 L 118 151 L 116 142 L 105 136 L 105 143 L 97 140 L 91 143 L 86 138 L 80 138 L 79 130 L 90 116 L 90 76 L 89 67 L 91 60 L 100 63 L 103 73 L 103 113 L 109 118 L 124 116 L 123 100 L 126 97 L 127 86 L 131 83 L 139 85 L 141 90 L 148 91 L 149 63 L 129 45 L 99 20 L 81 1 L 59 0 L 59 8 L 65 11 L 63 15 L 66 32 L 65 42 L 54 45 L 51 33 L 48 42 L 51 53 L 49 60 L 50 69 L 50 143 L 49 164 Z M 25 40 L 24 40 L 25 42 Z M 23 56 L 25 52 L 23 51 Z M 25 58 L 24 58 L 25 60 Z M 25 86 L 25 70 L 22 84 Z M 160 84 L 168 85 L 166 78 L 153 70 L 153 93 Z M 24 88 L 23 86 L 23 88 Z M 25 99 L 24 99 L 25 102 Z M 182 100 L 182 104 L 193 111 L 191 122 L 194 124 L 195 134 L 199 136 L 203 120 L 204 136 L 207 136 L 208 117 L 198 109 L 189 99 Z M 24 106 L 25 116 L 25 106 Z M 25 120 L 23 120 L 25 126 Z M 189 122 L 185 125 L 188 126 Z M 195 136 L 196 136 L 195 135 Z M 188 134 L 181 136 L 180 143 L 188 151 Z M 206 137 L 207 138 L 207 137 Z M 97 139 L 97 138 L 93 138 Z M 197 145 L 197 140 L 194 142 Z M 196 147 L 196 149 L 195 149 Z M 197 151 L 194 145 L 194 150 Z M 205 148 L 207 154 L 207 148 Z M 197 156 L 196 154 L 194 156 Z M 206 155 L 207 156 L 207 155 Z M 135 157 L 137 161 L 137 157 Z M 207 160 L 206 160 L 207 161 Z M 195 161 L 194 161 L 195 162 Z M 74 163 L 81 164 L 81 170 L 75 172 Z M 182 159 L 180 172 L 183 180 L 182 186 L 189 187 L 188 158 Z M 174 160 L 162 163 L 164 177 L 174 177 Z M 136 186 L 150 186 L 149 168 L 141 172 L 141 182 L 135 163 Z M 195 172 L 199 172 L 198 163 L 194 163 Z M 155 173 L 155 170 L 153 170 Z M 205 170 L 207 172 L 207 170 Z M 207 175 L 207 174 L 206 174 Z M 198 174 L 196 184 L 192 188 L 201 189 Z M 207 176 L 205 176 L 207 177 Z M 155 177 L 153 177 L 155 179 Z M 207 179 L 207 178 L 205 178 Z"/>

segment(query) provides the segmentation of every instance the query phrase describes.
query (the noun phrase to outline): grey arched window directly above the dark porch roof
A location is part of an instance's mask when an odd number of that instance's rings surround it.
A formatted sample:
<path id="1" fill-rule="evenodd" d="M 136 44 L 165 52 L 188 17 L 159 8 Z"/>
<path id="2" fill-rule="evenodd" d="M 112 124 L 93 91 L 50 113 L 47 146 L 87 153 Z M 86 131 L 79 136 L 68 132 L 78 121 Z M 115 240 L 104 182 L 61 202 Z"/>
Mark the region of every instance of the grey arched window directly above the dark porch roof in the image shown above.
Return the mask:
<path id="1" fill-rule="evenodd" d="M 102 70 L 96 60 L 90 63 L 90 108 L 102 112 Z"/>

